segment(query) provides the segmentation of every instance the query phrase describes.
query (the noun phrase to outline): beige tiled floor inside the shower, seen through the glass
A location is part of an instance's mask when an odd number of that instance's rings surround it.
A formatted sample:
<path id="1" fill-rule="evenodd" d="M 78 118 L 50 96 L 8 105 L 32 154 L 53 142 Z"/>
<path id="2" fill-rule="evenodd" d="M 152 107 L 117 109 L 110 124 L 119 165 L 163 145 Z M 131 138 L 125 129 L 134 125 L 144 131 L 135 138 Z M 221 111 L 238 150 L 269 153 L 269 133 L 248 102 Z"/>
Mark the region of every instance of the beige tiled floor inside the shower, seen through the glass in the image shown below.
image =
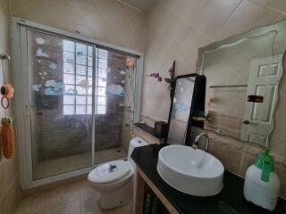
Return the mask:
<path id="1" fill-rule="evenodd" d="M 127 156 L 121 147 L 98 151 L 95 153 L 96 164 L 121 159 Z M 33 170 L 34 179 L 51 177 L 75 169 L 84 169 L 91 166 L 90 152 L 71 155 L 49 161 L 39 161 Z"/>

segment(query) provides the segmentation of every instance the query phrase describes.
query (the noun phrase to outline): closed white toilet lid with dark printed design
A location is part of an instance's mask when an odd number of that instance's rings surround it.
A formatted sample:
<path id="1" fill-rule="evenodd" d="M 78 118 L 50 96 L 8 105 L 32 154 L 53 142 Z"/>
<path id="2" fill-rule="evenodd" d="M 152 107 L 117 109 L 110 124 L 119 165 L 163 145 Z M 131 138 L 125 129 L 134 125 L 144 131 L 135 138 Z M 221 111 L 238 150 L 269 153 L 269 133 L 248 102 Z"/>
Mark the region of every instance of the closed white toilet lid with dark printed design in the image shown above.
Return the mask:
<path id="1" fill-rule="evenodd" d="M 111 183 L 127 176 L 130 171 L 128 161 L 110 161 L 93 169 L 88 174 L 88 180 L 94 183 Z"/>

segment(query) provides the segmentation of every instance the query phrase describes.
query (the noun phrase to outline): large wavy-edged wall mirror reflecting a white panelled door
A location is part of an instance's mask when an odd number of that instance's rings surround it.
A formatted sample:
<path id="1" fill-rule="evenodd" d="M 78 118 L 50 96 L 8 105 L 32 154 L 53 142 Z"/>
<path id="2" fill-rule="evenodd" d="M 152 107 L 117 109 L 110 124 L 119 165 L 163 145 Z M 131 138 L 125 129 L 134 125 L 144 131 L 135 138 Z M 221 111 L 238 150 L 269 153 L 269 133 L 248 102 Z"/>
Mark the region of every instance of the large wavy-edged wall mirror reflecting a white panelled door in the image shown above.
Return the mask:
<path id="1" fill-rule="evenodd" d="M 286 21 L 253 29 L 199 49 L 206 75 L 205 128 L 268 146 L 282 79 Z"/>

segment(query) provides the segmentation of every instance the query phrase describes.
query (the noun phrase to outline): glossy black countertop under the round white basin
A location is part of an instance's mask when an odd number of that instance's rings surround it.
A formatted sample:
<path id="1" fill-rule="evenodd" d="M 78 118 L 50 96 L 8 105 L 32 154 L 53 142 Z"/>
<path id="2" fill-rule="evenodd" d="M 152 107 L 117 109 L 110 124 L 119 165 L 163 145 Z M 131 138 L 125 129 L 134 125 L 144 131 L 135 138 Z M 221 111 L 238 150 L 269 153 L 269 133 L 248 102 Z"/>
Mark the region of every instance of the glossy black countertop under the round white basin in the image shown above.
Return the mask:
<path id="1" fill-rule="evenodd" d="M 167 185 L 159 176 L 156 170 L 158 152 L 165 145 L 151 144 L 135 148 L 131 158 L 139 169 L 156 185 L 164 194 L 172 206 L 180 213 L 188 214 L 264 214 L 264 213 L 286 213 L 286 202 L 281 198 L 273 212 L 264 210 L 256 205 L 247 202 L 243 196 L 243 182 L 229 171 L 224 172 L 223 191 L 211 197 L 198 197 L 178 190 Z"/>

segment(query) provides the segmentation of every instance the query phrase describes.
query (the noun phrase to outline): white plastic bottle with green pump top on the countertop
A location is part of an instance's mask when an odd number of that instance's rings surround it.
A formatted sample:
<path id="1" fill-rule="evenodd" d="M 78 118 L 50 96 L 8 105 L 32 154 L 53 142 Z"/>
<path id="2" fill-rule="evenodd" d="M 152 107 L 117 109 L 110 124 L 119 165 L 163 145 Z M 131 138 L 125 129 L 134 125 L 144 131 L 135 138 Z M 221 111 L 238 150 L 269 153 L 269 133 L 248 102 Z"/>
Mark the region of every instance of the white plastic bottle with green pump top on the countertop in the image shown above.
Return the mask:
<path id="1" fill-rule="evenodd" d="M 274 172 L 273 157 L 269 149 L 258 154 L 257 161 L 246 172 L 244 197 L 266 210 L 274 210 L 280 189 L 280 179 Z"/>

